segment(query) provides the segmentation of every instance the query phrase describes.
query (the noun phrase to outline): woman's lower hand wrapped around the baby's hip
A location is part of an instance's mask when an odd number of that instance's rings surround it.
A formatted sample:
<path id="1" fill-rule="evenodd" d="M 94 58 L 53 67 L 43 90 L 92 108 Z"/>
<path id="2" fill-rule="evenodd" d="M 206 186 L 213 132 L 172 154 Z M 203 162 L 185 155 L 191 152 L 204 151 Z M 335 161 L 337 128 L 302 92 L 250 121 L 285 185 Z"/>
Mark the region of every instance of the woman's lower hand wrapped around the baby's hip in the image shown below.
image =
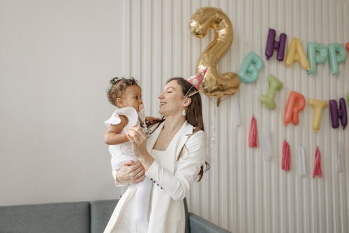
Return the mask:
<path id="1" fill-rule="evenodd" d="M 117 171 L 117 181 L 120 183 L 138 183 L 145 177 L 145 170 L 139 161 L 127 161 Z"/>

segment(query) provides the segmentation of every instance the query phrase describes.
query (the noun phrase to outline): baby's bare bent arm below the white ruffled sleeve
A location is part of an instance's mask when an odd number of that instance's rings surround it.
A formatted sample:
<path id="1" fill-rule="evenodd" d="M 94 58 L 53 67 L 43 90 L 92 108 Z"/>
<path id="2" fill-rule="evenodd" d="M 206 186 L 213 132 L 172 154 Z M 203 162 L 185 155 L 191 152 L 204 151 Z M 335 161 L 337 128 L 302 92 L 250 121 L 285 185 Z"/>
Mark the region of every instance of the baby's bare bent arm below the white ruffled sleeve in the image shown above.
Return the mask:
<path id="1" fill-rule="evenodd" d="M 121 122 L 117 125 L 110 125 L 107 128 L 107 132 L 104 135 L 104 142 L 108 145 L 115 145 L 124 142 L 128 142 L 128 139 L 124 133 L 120 133 L 121 130 L 127 125 L 128 119 L 125 116 L 119 116 Z"/>

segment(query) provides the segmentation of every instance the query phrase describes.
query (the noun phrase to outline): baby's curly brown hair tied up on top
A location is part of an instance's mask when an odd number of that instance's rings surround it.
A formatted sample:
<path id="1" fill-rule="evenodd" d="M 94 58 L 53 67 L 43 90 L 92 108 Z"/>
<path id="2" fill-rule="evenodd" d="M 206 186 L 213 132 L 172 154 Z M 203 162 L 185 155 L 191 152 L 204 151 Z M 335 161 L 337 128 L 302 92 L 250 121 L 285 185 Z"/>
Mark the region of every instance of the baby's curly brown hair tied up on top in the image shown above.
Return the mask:
<path id="1" fill-rule="evenodd" d="M 117 98 L 121 98 L 127 87 L 133 85 L 140 86 L 133 77 L 113 77 L 109 83 L 110 87 L 107 90 L 107 98 L 109 102 L 114 106 L 117 106 Z"/>

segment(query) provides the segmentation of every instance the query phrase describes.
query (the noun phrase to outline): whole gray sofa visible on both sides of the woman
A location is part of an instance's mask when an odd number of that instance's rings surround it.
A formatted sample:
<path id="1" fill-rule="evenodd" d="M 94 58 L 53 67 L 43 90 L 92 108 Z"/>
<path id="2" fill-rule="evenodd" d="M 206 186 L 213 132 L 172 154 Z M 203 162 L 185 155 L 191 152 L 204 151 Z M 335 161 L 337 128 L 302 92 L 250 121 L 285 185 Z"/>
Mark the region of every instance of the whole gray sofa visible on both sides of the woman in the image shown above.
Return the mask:
<path id="1" fill-rule="evenodd" d="M 0 206 L 1 233 L 101 233 L 118 200 Z M 194 213 L 188 213 L 186 233 L 226 233 Z M 156 232 L 154 232 L 156 233 Z"/>

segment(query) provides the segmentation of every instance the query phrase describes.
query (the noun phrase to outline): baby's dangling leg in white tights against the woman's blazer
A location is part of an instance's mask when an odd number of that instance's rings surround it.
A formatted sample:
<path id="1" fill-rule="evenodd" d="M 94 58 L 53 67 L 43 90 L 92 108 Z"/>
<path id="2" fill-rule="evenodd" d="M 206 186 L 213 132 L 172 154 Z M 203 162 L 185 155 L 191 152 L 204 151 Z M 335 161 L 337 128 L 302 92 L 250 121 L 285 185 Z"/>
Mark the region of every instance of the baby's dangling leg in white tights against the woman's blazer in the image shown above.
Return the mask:
<path id="1" fill-rule="evenodd" d="M 144 180 L 136 183 L 137 192 L 135 193 L 135 222 L 137 223 L 138 232 L 148 232 L 148 210 L 149 197 L 152 182 L 145 176 Z"/>

